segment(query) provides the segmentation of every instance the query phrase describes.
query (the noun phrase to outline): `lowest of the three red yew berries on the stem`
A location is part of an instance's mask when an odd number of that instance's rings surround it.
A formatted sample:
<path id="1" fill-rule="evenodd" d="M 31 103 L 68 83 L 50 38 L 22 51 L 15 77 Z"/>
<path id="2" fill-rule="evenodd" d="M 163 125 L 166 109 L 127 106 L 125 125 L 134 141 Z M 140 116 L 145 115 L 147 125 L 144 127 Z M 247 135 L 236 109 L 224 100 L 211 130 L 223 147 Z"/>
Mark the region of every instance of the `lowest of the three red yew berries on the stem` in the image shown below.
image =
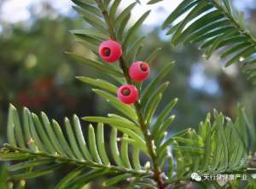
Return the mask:
<path id="1" fill-rule="evenodd" d="M 130 105 L 137 101 L 138 92 L 134 85 L 124 84 L 118 89 L 117 95 L 119 100 L 127 105 Z"/>

